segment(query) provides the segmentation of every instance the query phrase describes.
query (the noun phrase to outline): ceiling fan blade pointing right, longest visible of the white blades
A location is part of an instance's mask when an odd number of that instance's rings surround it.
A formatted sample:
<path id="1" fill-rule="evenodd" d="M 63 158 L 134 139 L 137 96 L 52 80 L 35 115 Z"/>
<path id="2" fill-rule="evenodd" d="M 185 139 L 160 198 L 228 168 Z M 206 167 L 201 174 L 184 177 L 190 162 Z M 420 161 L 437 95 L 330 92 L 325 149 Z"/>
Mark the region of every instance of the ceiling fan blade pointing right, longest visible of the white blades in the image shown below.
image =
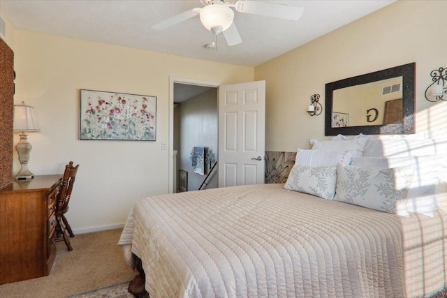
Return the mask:
<path id="1" fill-rule="evenodd" d="M 235 3 L 235 9 L 240 13 L 251 13 L 254 15 L 265 15 L 267 17 L 278 17 L 285 20 L 300 20 L 305 10 L 298 6 L 287 6 L 282 4 L 239 0 Z"/>

